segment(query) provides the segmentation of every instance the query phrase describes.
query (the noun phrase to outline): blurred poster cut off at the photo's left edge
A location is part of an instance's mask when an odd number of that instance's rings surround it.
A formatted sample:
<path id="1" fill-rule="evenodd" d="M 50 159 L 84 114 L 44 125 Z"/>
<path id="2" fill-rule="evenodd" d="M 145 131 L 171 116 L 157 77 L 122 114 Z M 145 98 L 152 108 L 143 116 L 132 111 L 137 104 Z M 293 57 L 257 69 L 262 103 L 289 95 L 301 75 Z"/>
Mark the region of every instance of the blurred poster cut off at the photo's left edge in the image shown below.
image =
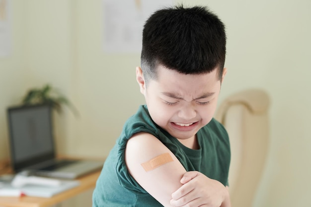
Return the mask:
<path id="1" fill-rule="evenodd" d="M 9 0 L 0 0 L 0 57 L 10 53 Z"/>

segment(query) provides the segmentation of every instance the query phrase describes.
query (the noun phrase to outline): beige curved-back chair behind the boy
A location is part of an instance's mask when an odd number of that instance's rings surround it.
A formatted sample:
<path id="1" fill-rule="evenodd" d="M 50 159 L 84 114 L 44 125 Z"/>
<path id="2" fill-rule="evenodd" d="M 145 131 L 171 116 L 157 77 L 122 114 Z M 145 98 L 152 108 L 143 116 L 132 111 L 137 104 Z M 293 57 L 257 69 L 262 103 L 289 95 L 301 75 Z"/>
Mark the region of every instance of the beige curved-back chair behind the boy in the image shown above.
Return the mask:
<path id="1" fill-rule="evenodd" d="M 230 137 L 232 207 L 252 206 L 268 149 L 269 103 L 264 90 L 248 89 L 225 99 L 215 114 Z"/>

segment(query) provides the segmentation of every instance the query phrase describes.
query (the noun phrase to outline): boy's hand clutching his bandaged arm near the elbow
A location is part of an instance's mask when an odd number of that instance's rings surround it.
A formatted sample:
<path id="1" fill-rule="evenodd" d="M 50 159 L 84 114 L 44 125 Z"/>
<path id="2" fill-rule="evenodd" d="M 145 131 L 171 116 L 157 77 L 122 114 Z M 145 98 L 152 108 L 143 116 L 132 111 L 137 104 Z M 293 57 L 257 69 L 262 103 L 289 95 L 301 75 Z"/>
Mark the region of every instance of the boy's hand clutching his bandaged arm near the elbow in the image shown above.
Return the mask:
<path id="1" fill-rule="evenodd" d="M 174 207 L 231 207 L 228 190 L 217 180 L 190 171 L 180 183 L 183 185 L 172 193 L 170 201 Z"/>

